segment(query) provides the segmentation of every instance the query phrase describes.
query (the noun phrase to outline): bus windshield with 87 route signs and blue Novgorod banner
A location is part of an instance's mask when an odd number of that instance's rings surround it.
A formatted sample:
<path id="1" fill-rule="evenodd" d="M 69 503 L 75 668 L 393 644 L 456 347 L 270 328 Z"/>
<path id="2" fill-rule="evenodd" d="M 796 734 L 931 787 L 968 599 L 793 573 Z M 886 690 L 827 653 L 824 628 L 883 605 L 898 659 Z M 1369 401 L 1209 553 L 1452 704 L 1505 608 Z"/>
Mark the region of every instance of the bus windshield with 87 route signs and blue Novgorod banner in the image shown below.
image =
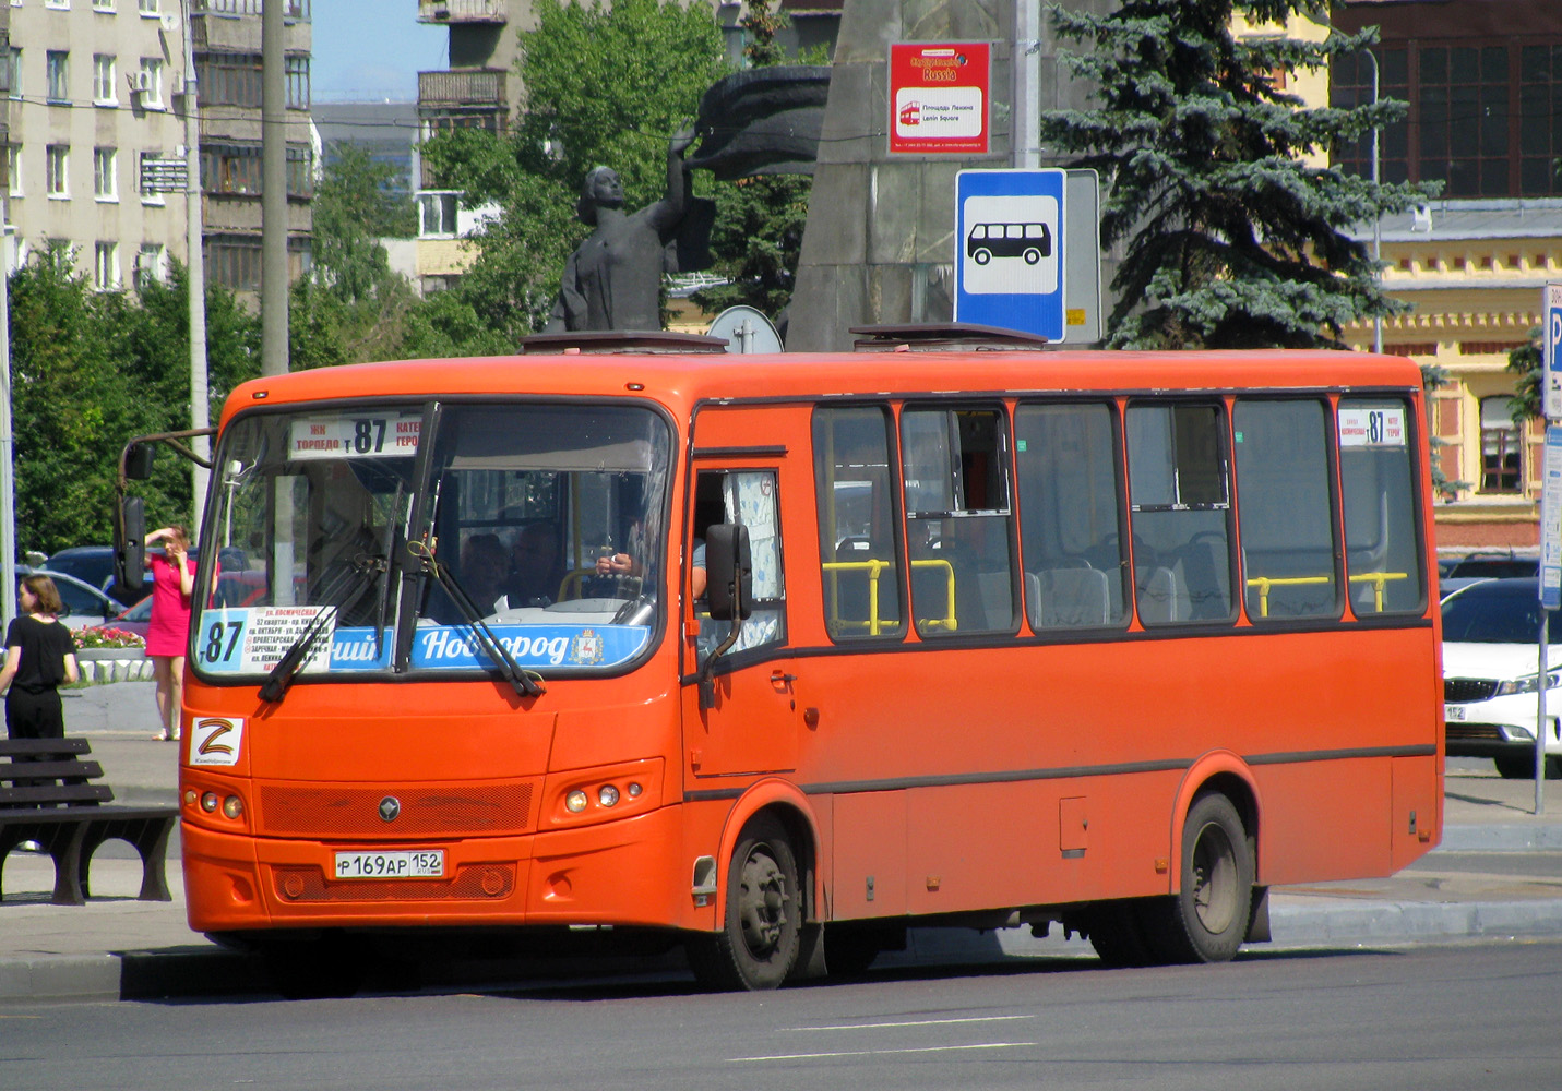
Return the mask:
<path id="1" fill-rule="evenodd" d="M 639 406 L 242 415 L 216 459 L 194 665 L 253 681 L 294 649 L 316 679 L 490 671 L 478 618 L 528 671 L 622 666 L 658 631 L 670 453 Z M 631 560 L 600 573 L 612 554 Z"/>

